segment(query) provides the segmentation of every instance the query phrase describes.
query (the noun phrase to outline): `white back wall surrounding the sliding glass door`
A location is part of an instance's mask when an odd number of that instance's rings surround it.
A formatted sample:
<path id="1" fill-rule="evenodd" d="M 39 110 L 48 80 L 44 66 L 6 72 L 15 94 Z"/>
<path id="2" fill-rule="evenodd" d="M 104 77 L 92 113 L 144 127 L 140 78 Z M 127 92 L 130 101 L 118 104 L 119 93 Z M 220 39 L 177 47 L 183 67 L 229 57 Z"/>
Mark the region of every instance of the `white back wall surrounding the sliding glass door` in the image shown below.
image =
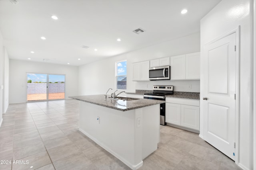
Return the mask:
<path id="1" fill-rule="evenodd" d="M 65 98 L 78 95 L 77 66 L 10 59 L 10 104 L 26 102 L 26 73 L 65 74 Z"/>

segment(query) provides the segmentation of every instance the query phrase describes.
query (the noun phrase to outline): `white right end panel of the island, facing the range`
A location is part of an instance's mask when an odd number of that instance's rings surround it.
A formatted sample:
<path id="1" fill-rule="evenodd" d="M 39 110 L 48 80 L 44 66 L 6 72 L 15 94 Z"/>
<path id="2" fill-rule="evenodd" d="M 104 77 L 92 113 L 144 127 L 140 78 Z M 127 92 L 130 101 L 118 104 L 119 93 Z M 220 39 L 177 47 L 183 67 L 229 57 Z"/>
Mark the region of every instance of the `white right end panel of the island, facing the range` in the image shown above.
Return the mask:
<path id="1" fill-rule="evenodd" d="M 160 104 L 143 107 L 142 159 L 157 149 L 160 141 Z"/>

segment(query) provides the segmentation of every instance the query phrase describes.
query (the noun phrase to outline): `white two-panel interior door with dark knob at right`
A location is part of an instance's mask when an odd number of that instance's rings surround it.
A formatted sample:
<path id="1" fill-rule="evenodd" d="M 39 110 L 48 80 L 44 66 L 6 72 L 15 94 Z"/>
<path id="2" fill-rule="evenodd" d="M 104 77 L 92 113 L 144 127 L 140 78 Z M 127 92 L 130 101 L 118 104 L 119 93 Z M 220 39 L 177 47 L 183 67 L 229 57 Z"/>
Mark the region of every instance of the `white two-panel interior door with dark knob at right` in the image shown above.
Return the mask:
<path id="1" fill-rule="evenodd" d="M 204 140 L 234 160 L 236 33 L 205 46 Z M 207 98 L 207 99 L 206 99 Z"/>

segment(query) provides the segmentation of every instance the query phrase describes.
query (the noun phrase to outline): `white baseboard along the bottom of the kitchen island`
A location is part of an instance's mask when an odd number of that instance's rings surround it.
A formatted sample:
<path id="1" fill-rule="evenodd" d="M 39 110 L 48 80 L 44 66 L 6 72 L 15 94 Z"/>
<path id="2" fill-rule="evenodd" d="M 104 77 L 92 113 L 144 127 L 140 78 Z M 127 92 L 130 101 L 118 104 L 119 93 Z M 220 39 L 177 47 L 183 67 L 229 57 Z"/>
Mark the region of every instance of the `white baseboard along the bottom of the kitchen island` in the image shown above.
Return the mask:
<path id="1" fill-rule="evenodd" d="M 103 143 L 99 142 L 97 139 L 95 139 L 94 137 L 92 137 L 91 135 L 89 135 L 88 133 L 86 133 L 85 131 L 83 131 L 82 129 L 78 129 L 80 132 L 82 132 L 84 135 L 86 135 L 87 137 L 89 137 L 90 139 L 92 139 L 95 143 L 97 143 L 98 145 L 100 145 L 100 147 L 102 147 L 103 149 L 105 149 L 106 151 L 110 152 L 112 155 L 114 155 L 116 158 L 118 158 L 119 160 L 121 160 L 124 164 L 126 164 L 127 166 L 129 166 L 129 168 L 131 168 L 132 170 L 137 170 L 138 168 L 140 168 L 143 165 L 143 160 L 137 164 L 137 165 L 133 165 L 130 164 L 130 162 L 128 162 L 126 159 L 124 159 L 122 156 L 120 156 L 119 154 L 117 154 L 116 152 L 114 152 L 112 149 L 108 148 L 106 145 L 104 145 Z"/>

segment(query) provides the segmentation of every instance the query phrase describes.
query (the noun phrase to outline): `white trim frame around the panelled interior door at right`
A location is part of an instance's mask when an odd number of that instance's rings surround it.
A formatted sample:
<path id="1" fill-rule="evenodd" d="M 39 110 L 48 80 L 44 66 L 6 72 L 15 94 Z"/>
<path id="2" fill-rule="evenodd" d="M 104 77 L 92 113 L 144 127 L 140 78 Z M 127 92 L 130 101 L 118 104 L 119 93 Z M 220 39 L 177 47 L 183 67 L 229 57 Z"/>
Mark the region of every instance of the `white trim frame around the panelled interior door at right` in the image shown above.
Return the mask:
<path id="1" fill-rule="evenodd" d="M 216 39 L 213 39 L 212 41 L 209 41 L 208 43 L 202 45 L 201 47 L 203 48 L 203 50 L 201 51 L 201 68 L 202 71 L 204 72 L 204 66 L 203 66 L 203 57 L 206 55 L 205 52 L 205 46 L 209 45 L 211 43 L 214 43 L 224 37 L 227 37 L 228 35 L 231 35 L 233 33 L 236 33 L 236 54 L 235 54 L 235 76 L 236 76 L 236 101 L 235 101 L 235 143 L 236 143 L 236 147 L 235 147 L 235 163 L 238 164 L 238 160 L 239 160 L 239 139 L 240 139 L 240 25 L 238 27 L 236 27 L 235 29 L 232 29 L 231 31 L 228 31 L 227 33 L 221 35 L 220 37 L 217 37 Z M 202 72 L 201 71 L 201 72 Z M 204 74 L 201 74 L 200 77 L 200 134 L 199 137 L 201 137 L 202 139 L 204 139 L 204 114 L 205 113 L 205 108 L 204 108 L 204 102 L 202 100 L 202 98 L 204 96 L 206 96 L 206 94 L 204 94 Z"/>

